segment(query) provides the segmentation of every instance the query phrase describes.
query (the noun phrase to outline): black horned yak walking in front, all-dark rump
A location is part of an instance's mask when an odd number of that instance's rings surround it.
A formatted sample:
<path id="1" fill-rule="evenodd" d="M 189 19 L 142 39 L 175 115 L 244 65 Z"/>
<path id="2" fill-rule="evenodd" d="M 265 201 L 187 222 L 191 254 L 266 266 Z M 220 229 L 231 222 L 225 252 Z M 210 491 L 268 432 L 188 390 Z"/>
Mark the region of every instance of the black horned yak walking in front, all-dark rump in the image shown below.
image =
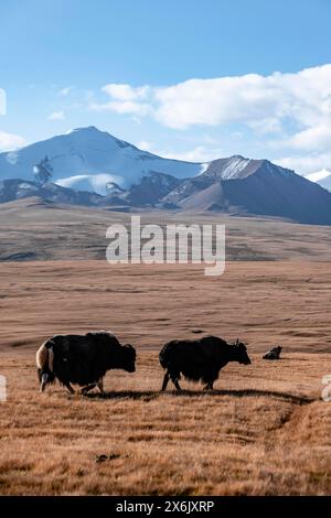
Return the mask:
<path id="1" fill-rule="evenodd" d="M 166 369 L 162 390 L 171 379 L 178 390 L 181 374 L 192 381 L 202 380 L 205 390 L 213 390 L 220 370 L 228 361 L 248 365 L 250 359 L 246 346 L 237 342 L 227 344 L 217 336 L 205 336 L 200 339 L 173 339 L 164 345 L 159 355 L 160 364 Z"/>

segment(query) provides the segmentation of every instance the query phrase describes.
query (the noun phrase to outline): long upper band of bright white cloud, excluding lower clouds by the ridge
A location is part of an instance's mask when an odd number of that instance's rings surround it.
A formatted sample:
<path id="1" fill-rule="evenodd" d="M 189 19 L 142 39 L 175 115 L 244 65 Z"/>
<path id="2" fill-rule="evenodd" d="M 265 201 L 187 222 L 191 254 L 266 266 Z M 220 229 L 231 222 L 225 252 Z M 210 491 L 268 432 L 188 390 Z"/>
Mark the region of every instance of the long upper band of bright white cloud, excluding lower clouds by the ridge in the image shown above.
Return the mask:
<path id="1" fill-rule="evenodd" d="M 301 127 L 331 117 L 331 64 L 296 74 L 246 74 L 214 79 L 189 79 L 173 86 L 132 87 L 109 84 L 110 97 L 96 110 L 152 116 L 163 126 L 218 126 L 239 122 L 261 132 L 279 132 L 292 120 Z"/>

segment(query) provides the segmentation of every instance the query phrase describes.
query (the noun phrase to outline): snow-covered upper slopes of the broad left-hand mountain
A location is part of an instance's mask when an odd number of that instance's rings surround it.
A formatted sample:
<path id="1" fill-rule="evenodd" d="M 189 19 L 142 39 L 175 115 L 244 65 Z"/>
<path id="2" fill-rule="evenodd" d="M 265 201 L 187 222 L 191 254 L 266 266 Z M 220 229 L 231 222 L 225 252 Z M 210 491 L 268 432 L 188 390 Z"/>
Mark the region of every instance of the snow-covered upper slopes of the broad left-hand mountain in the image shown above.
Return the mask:
<path id="1" fill-rule="evenodd" d="M 95 127 L 0 153 L 0 180 L 33 182 L 42 172 L 47 182 L 103 195 L 114 183 L 122 188 L 138 184 L 150 171 L 184 179 L 197 175 L 203 164 L 162 159 Z"/>

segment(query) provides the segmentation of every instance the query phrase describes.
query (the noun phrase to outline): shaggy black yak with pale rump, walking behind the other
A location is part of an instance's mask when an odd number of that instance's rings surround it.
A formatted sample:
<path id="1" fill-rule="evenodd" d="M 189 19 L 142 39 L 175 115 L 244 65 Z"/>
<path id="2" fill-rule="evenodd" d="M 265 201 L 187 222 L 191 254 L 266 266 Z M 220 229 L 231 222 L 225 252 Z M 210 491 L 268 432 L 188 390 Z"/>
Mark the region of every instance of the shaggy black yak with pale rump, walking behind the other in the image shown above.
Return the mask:
<path id="1" fill-rule="evenodd" d="M 109 369 L 136 370 L 136 350 L 120 345 L 116 336 L 107 332 L 86 335 L 56 335 L 47 339 L 36 353 L 36 369 L 41 392 L 55 381 L 64 385 L 71 393 L 71 384 L 77 384 L 82 393 L 94 387 L 104 391 L 103 378 Z"/>

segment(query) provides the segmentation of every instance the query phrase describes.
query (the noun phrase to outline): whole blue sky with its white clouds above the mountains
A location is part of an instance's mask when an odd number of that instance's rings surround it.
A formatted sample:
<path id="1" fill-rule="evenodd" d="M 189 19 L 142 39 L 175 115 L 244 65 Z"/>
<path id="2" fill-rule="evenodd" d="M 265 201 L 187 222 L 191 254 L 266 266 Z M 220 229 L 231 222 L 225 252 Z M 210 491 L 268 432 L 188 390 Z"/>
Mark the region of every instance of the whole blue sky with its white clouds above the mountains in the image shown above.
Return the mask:
<path id="1" fill-rule="evenodd" d="M 331 1 L 1 0 L 0 150 L 97 126 L 156 153 L 331 168 Z"/>

